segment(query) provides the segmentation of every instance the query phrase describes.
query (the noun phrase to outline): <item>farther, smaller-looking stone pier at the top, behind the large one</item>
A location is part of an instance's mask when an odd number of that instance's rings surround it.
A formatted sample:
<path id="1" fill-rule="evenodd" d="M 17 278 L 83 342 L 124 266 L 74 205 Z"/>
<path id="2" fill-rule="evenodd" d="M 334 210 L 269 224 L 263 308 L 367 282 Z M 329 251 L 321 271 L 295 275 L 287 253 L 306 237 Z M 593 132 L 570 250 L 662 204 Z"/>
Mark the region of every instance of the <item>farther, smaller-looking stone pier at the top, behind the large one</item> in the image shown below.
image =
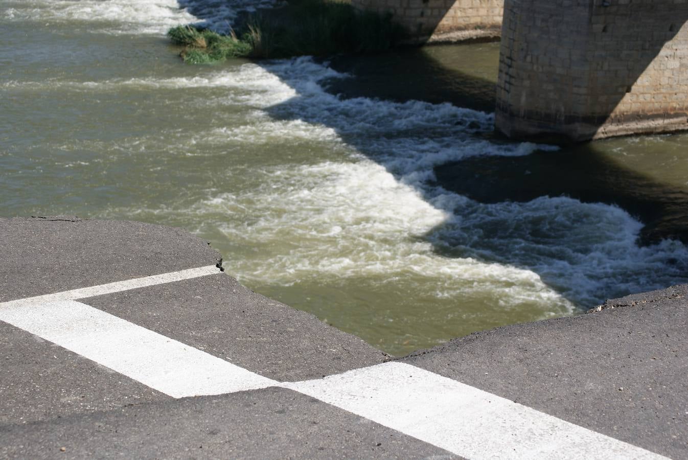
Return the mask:
<path id="1" fill-rule="evenodd" d="M 391 12 L 420 43 L 496 38 L 504 0 L 352 0 L 361 10 Z"/>

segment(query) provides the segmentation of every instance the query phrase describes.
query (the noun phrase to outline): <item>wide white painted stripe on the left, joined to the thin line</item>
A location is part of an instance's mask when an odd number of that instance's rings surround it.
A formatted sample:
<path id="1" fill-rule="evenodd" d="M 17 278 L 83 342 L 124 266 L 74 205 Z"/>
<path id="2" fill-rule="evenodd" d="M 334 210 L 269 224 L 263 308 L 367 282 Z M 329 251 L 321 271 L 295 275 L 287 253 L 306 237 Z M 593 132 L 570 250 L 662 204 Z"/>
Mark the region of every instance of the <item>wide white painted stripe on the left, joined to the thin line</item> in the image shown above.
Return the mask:
<path id="1" fill-rule="evenodd" d="M 2 307 L 0 320 L 171 397 L 219 395 L 277 383 L 75 300 Z"/>

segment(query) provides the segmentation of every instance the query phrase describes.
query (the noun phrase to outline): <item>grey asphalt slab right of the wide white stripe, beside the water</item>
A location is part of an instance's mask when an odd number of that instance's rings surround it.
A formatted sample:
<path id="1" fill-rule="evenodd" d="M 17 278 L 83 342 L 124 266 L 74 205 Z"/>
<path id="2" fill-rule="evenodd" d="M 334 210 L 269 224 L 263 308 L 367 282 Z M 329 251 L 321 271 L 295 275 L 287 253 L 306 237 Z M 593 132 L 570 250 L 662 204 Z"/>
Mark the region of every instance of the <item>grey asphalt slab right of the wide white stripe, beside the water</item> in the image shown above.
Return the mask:
<path id="1" fill-rule="evenodd" d="M 402 362 L 688 459 L 688 285 L 473 333 Z M 622 389 L 623 388 L 623 389 Z"/>

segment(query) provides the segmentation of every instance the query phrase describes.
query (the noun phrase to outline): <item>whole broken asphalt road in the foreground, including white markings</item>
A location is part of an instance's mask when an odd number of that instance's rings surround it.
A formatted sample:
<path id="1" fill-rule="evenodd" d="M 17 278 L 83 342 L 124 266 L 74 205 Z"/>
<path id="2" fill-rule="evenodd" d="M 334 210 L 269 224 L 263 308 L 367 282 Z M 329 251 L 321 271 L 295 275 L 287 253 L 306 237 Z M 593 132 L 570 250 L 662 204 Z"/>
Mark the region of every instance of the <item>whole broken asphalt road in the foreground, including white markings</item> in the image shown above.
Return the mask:
<path id="1" fill-rule="evenodd" d="M 182 230 L 0 219 L 0 458 L 688 459 L 688 286 L 405 358 Z"/>

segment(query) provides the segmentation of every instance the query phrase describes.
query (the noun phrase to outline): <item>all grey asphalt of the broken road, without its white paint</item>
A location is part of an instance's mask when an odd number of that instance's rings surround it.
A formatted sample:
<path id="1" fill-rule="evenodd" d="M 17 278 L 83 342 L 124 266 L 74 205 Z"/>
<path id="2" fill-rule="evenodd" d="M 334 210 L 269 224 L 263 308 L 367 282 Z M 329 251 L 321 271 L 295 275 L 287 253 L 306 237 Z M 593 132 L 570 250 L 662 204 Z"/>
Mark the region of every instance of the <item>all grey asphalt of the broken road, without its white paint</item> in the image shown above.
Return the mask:
<path id="1" fill-rule="evenodd" d="M 0 219 L 0 254 L 0 302 L 219 262 L 182 230 L 63 218 Z M 391 359 L 219 272 L 80 301 L 275 380 Z M 597 310 L 473 333 L 400 361 L 688 459 L 688 286 Z M 449 454 L 283 388 L 173 399 L 0 322 L 0 458 L 55 457 Z"/>

